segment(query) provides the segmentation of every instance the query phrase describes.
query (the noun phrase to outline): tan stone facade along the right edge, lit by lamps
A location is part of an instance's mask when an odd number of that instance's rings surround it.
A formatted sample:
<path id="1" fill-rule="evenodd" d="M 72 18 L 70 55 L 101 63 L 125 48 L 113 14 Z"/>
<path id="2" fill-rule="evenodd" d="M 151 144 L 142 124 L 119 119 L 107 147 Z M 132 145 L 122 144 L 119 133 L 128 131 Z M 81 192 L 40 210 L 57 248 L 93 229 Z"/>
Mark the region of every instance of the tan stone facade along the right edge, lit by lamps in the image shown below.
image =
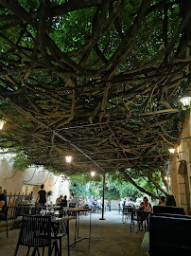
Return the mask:
<path id="1" fill-rule="evenodd" d="M 187 111 L 182 123 L 180 140 L 177 140 L 176 154 L 170 157 L 169 188 L 177 205 L 191 214 L 191 115 Z"/>

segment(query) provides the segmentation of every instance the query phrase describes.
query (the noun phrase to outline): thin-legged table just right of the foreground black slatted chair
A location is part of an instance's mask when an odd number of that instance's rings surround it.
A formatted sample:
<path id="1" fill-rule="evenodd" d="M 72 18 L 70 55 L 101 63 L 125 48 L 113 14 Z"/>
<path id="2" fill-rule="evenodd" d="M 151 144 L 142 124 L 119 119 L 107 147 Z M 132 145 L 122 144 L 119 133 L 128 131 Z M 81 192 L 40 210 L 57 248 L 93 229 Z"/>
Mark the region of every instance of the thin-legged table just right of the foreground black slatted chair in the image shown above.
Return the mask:
<path id="1" fill-rule="evenodd" d="M 79 236 L 79 217 L 81 212 L 88 212 L 90 211 L 90 221 L 89 221 L 89 236 L 88 237 L 80 237 Z M 91 239 L 91 209 L 82 209 L 82 208 L 69 208 L 67 210 L 68 215 L 70 213 L 74 213 L 76 218 L 76 225 L 75 225 L 75 241 L 70 243 L 71 247 L 76 247 L 76 244 L 84 239 Z"/>

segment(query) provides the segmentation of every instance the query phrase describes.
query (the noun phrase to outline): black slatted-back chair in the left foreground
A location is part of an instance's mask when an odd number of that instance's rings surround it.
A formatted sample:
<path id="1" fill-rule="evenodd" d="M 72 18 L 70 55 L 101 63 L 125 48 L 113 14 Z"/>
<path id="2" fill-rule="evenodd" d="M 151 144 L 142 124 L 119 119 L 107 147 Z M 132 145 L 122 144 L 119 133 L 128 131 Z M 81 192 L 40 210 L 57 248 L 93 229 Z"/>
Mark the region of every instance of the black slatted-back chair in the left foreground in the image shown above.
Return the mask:
<path id="1" fill-rule="evenodd" d="M 59 254 L 57 240 L 51 237 L 51 229 L 51 216 L 23 215 L 14 256 L 17 255 L 20 246 L 28 247 L 27 256 L 30 248 L 33 248 L 33 256 L 36 252 L 40 256 L 39 248 L 43 248 L 44 254 L 44 247 L 48 247 L 48 256 L 52 255 L 54 247 L 55 255 Z"/>

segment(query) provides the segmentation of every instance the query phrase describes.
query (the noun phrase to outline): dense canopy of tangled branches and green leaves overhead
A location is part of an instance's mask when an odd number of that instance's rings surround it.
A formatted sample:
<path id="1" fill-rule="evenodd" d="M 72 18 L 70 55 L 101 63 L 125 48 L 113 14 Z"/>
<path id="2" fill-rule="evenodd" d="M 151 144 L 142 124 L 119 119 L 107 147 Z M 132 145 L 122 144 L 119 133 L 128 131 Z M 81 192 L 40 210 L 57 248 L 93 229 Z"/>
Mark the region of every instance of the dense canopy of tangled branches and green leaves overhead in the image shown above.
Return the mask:
<path id="1" fill-rule="evenodd" d="M 118 170 L 158 186 L 190 24 L 189 0 L 0 0 L 0 146 L 58 173 Z"/>

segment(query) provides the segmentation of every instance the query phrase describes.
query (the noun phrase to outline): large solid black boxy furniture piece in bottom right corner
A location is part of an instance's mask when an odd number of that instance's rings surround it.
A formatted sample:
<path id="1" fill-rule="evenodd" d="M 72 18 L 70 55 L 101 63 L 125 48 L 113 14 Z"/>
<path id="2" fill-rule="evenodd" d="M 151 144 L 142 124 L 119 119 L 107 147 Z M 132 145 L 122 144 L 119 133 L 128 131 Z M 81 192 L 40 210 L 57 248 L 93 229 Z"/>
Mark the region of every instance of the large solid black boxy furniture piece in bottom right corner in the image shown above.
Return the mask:
<path id="1" fill-rule="evenodd" d="M 191 216 L 155 214 L 149 218 L 149 256 L 191 254 Z"/>

